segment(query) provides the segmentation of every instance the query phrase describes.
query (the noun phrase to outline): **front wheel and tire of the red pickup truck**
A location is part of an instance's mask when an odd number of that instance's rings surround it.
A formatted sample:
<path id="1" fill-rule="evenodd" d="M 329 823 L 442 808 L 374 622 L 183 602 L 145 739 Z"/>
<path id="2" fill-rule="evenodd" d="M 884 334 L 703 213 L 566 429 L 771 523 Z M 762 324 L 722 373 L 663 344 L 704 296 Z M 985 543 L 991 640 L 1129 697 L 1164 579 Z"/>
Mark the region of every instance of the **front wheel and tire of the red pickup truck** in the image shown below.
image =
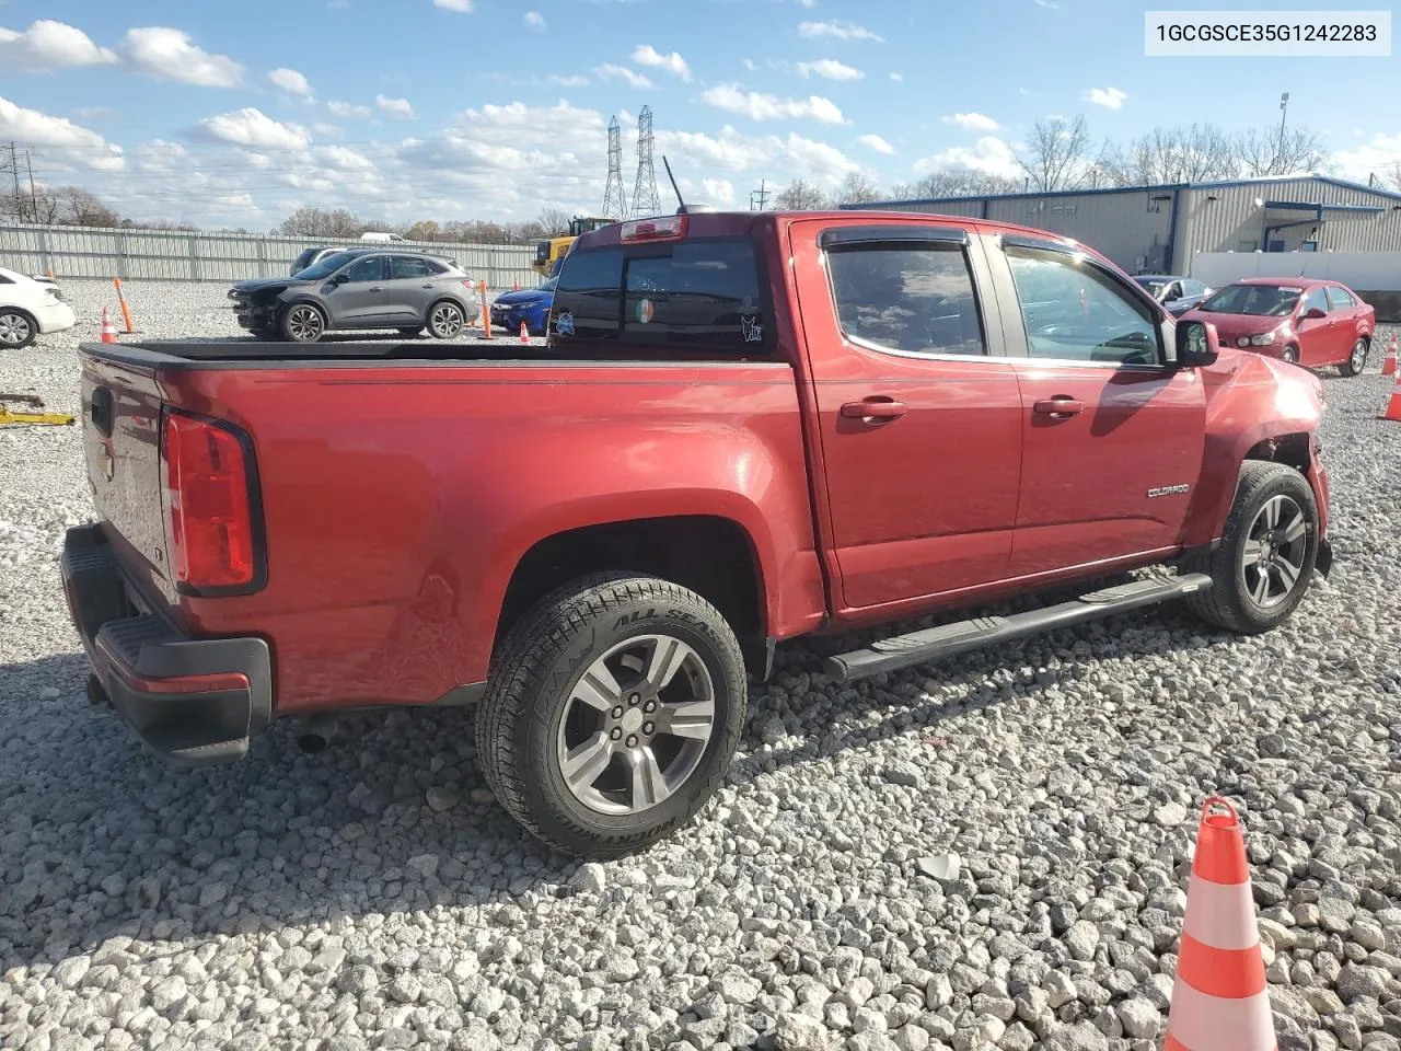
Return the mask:
<path id="1" fill-rule="evenodd" d="M 1274 528 L 1267 517 L 1268 506 L 1279 509 Z M 1293 513 L 1302 518 L 1303 533 L 1290 540 Z M 1261 547 L 1265 534 L 1271 535 L 1271 542 Z M 1247 460 L 1240 469 L 1220 545 L 1182 566 L 1184 572 L 1212 577 L 1209 590 L 1188 596 L 1188 608 L 1208 624 L 1240 635 L 1268 632 L 1303 601 L 1317 558 L 1318 504 L 1309 481 L 1285 464 Z M 1268 569 L 1261 568 L 1265 559 Z M 1292 583 L 1281 563 L 1293 573 Z M 1262 586 L 1262 580 L 1268 583 Z"/>

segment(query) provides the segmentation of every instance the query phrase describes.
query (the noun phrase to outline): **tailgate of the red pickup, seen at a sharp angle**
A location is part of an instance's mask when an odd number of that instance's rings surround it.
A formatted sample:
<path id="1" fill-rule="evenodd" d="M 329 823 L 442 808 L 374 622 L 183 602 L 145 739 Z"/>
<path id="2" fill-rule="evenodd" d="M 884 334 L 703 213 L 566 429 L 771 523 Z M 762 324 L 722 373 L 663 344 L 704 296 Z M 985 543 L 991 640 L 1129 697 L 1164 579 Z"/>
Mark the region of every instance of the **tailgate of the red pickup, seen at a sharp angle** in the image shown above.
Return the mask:
<path id="1" fill-rule="evenodd" d="M 156 369 L 83 353 L 83 451 L 109 533 L 165 577 L 161 391 Z M 109 537 L 118 540 L 118 537 Z"/>

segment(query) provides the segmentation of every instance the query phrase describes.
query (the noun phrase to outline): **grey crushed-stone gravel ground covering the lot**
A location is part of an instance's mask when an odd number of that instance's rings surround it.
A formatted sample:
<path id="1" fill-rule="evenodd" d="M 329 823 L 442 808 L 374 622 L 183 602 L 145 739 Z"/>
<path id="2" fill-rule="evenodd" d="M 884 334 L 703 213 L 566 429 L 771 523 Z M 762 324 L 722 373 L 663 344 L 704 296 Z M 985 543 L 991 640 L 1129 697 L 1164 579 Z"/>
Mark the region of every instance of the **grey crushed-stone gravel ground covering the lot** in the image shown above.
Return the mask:
<path id="1" fill-rule="evenodd" d="M 0 364 L 74 409 L 84 325 Z M 133 286 L 151 334 L 223 290 Z M 1380 353 L 1376 355 L 1380 360 Z M 182 772 L 87 709 L 59 589 L 74 429 L 0 430 L 0 1045 L 776 1047 L 1161 1041 L 1195 807 L 1243 810 L 1279 1047 L 1401 1048 L 1401 423 L 1328 378 L 1337 568 L 1281 631 L 1175 610 L 838 687 L 785 647 L 729 783 L 649 853 L 544 851 L 469 712 L 277 726 Z"/>

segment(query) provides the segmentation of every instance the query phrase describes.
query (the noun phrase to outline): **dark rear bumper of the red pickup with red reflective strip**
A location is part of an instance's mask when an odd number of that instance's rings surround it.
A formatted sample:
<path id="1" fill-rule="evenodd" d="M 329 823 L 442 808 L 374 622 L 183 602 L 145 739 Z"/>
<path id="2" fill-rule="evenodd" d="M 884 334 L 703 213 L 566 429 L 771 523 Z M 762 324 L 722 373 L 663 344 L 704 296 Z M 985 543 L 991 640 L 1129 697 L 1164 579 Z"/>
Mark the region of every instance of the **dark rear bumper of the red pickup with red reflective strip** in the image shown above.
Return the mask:
<path id="1" fill-rule="evenodd" d="M 191 639 L 143 614 L 99 527 L 69 530 L 63 590 L 109 701 L 156 754 L 182 767 L 233 762 L 272 719 L 272 654 L 262 639 Z M 94 688 L 95 687 L 95 688 Z"/>

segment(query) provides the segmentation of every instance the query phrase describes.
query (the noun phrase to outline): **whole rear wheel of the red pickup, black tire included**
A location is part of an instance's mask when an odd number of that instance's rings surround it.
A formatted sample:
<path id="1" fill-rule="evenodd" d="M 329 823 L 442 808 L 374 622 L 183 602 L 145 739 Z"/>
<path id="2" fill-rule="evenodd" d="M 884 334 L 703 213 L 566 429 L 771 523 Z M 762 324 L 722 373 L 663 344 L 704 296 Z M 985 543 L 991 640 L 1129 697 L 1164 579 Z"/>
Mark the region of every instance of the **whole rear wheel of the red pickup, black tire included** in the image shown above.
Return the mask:
<path id="1" fill-rule="evenodd" d="M 660 689 L 646 675 L 654 660 L 670 671 Z M 734 632 L 703 598 L 653 577 L 584 577 L 507 633 L 476 713 L 478 762 L 502 806 L 551 846 L 632 853 L 715 792 L 747 688 Z"/>

